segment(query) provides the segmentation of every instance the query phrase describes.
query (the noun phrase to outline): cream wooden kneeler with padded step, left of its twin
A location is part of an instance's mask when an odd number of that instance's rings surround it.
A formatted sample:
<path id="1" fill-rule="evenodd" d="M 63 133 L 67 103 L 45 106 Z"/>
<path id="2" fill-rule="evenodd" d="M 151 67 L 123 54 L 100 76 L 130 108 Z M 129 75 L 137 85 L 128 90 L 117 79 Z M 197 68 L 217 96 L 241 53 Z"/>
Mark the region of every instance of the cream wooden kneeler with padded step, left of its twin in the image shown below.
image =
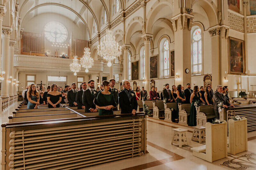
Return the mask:
<path id="1" fill-rule="evenodd" d="M 228 157 L 228 139 L 227 139 L 227 122 L 220 124 L 205 124 L 205 145 L 191 148 L 193 155 L 213 162 Z"/>

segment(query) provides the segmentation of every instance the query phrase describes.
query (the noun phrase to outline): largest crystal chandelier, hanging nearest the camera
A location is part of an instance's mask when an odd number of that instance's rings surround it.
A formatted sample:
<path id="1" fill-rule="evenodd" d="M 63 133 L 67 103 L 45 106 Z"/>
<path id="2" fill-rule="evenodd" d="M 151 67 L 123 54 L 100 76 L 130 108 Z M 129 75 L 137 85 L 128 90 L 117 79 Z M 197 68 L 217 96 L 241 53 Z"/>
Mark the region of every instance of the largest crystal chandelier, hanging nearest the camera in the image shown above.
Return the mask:
<path id="1" fill-rule="evenodd" d="M 111 29 L 106 29 L 106 36 L 98 46 L 98 55 L 108 61 L 108 67 L 112 65 L 112 60 L 121 55 L 121 47 L 115 41 Z"/>

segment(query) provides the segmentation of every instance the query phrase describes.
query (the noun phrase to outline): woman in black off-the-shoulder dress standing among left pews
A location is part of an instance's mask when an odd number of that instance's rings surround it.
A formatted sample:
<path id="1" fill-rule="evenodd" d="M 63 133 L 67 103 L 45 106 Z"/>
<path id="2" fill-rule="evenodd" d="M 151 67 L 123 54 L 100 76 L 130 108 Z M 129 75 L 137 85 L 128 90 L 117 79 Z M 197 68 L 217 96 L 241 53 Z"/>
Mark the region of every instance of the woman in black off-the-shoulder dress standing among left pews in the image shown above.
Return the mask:
<path id="1" fill-rule="evenodd" d="M 53 84 L 51 86 L 51 92 L 47 94 L 48 107 L 60 107 L 61 92 L 58 92 L 58 86 Z"/>

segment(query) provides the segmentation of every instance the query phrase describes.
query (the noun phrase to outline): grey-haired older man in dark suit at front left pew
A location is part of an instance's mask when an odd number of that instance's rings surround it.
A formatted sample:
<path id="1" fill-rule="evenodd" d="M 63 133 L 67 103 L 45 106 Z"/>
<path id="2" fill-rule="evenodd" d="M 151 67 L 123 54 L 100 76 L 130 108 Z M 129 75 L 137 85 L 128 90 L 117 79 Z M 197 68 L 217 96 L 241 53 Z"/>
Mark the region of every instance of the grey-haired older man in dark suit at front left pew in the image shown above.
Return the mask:
<path id="1" fill-rule="evenodd" d="M 138 103 L 135 93 L 130 89 L 131 85 L 128 80 L 122 83 L 124 90 L 118 93 L 118 102 L 121 108 L 121 114 L 132 113 L 135 115 Z"/>

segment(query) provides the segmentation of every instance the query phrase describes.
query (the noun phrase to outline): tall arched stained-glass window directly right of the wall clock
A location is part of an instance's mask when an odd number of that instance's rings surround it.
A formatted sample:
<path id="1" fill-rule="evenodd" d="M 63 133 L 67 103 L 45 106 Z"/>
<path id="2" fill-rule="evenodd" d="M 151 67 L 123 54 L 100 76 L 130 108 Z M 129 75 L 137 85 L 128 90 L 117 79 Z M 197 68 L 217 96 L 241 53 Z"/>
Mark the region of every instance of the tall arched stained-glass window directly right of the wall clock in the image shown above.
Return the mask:
<path id="1" fill-rule="evenodd" d="M 202 72 L 202 36 L 201 29 L 196 28 L 192 34 L 192 74 Z"/>

